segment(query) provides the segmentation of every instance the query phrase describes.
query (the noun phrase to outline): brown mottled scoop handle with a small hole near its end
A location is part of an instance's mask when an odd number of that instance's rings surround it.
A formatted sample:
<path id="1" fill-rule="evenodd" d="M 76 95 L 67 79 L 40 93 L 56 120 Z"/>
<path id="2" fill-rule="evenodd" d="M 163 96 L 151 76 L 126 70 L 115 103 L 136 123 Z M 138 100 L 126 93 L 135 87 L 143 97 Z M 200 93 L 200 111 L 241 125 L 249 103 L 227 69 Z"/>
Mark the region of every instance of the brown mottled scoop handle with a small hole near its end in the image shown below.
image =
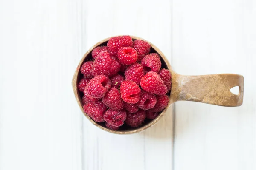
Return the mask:
<path id="1" fill-rule="evenodd" d="M 201 76 L 177 75 L 176 101 L 186 100 L 220 106 L 240 106 L 243 103 L 244 77 L 238 74 Z M 230 89 L 239 86 L 239 94 Z"/>

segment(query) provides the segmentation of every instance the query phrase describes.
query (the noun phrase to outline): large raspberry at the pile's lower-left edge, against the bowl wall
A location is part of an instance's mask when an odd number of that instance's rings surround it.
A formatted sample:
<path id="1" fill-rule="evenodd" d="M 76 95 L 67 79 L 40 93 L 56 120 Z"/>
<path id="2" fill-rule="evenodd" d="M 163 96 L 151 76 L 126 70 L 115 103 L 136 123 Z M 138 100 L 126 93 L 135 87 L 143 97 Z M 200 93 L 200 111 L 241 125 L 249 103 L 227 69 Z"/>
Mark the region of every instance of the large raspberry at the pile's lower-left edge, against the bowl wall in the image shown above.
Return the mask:
<path id="1" fill-rule="evenodd" d="M 102 101 L 87 102 L 84 104 L 84 112 L 95 122 L 104 122 L 103 114 L 107 109 Z"/>

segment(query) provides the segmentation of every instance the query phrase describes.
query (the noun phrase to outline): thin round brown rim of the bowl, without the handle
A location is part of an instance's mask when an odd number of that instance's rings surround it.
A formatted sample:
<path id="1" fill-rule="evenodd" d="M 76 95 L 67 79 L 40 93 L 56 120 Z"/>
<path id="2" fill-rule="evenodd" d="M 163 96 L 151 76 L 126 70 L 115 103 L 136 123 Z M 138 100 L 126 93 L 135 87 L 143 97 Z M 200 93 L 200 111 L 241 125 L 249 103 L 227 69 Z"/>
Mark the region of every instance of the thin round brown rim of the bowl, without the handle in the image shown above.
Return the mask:
<path id="1" fill-rule="evenodd" d="M 117 36 L 122 36 L 122 35 L 117 35 Z M 117 37 L 117 36 L 113 36 L 113 37 Z M 151 45 L 151 48 L 153 48 L 155 51 L 157 51 L 157 53 L 160 55 L 160 57 L 163 59 L 163 61 L 166 63 L 166 66 L 168 68 L 169 71 L 171 71 L 172 73 L 172 68 L 171 68 L 171 65 L 168 61 L 168 59 L 166 59 L 165 55 L 162 53 L 162 51 L 160 51 L 154 44 L 152 44 L 151 42 L 143 39 L 143 38 L 140 38 L 140 37 L 137 37 L 137 36 L 131 36 L 129 35 L 132 39 L 134 40 L 144 40 L 146 42 L 148 42 L 150 45 Z M 105 38 L 104 40 L 101 40 L 99 42 L 97 42 L 95 45 L 93 45 L 93 47 L 91 47 L 85 54 L 84 56 L 81 58 L 77 68 L 76 68 L 76 71 L 73 75 L 73 79 L 72 79 L 72 87 L 73 87 L 73 92 L 75 94 L 75 97 L 76 97 L 76 101 L 79 105 L 79 108 L 81 109 L 81 111 L 84 113 L 84 109 L 83 109 L 83 106 L 81 105 L 81 99 L 79 98 L 79 91 L 77 89 L 77 82 L 78 82 L 78 74 L 79 74 L 79 71 L 80 71 L 80 68 L 81 68 L 81 65 L 84 63 L 84 60 L 86 59 L 87 55 L 90 54 L 91 51 L 93 51 L 94 48 L 96 48 L 97 46 L 101 45 L 102 43 L 105 43 L 107 42 L 111 37 L 108 37 L 108 38 Z M 172 94 L 170 93 L 169 95 L 169 98 Z M 96 122 L 93 121 L 93 119 L 91 119 L 86 113 L 84 113 L 84 116 L 91 122 L 93 123 L 93 125 L 95 125 L 96 127 L 99 127 L 100 129 L 102 130 L 105 130 L 107 132 L 110 132 L 110 133 L 114 133 L 114 134 L 132 134 L 132 133 L 138 133 L 138 132 L 141 132 L 143 130 L 146 130 L 148 129 L 149 127 L 155 125 L 162 117 L 163 115 L 166 113 L 166 110 L 170 107 L 171 105 L 171 100 L 169 100 L 169 103 L 168 105 L 166 106 L 166 108 L 157 116 L 157 118 L 155 118 L 154 120 L 152 120 L 151 122 L 149 122 L 148 124 L 145 124 L 141 127 L 138 127 L 136 129 L 131 129 L 131 130 L 122 130 L 122 131 L 118 131 L 118 130 L 111 130 L 111 129 L 108 129 L 106 127 L 103 127 L 99 124 L 97 124 Z"/>

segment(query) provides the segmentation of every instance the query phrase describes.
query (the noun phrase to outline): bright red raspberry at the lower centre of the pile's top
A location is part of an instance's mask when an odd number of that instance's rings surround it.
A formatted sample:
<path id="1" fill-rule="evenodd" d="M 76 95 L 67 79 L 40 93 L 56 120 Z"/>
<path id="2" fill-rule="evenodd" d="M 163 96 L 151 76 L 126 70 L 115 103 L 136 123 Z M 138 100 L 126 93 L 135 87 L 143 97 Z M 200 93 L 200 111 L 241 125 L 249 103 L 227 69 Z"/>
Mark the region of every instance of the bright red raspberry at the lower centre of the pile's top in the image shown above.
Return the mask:
<path id="1" fill-rule="evenodd" d="M 140 99 L 140 87 L 132 81 L 123 81 L 120 85 L 120 92 L 122 99 L 131 104 L 135 104 Z"/>

